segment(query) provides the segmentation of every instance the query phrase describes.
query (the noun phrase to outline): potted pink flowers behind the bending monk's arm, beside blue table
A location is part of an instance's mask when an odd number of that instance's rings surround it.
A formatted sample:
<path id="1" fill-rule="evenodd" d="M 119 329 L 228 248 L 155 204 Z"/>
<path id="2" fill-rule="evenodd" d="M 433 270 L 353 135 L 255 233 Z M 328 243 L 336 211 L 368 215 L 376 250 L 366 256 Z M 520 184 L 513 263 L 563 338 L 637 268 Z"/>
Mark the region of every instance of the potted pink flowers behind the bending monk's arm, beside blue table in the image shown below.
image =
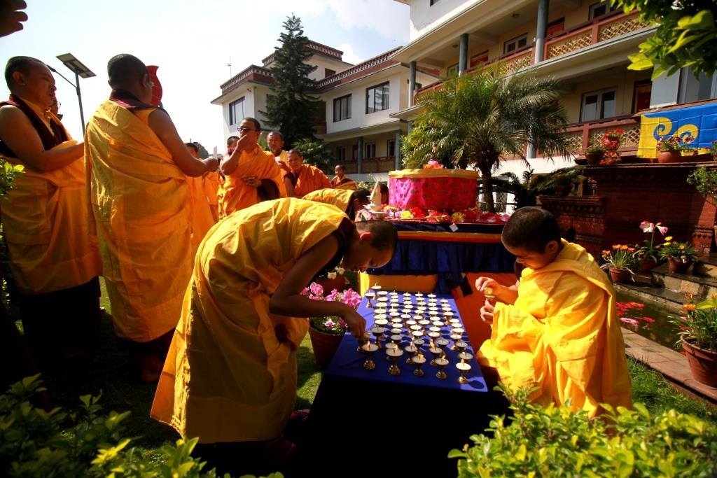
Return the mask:
<path id="1" fill-rule="evenodd" d="M 323 287 L 316 282 L 312 282 L 304 290 L 303 294 L 308 295 L 313 300 L 343 302 L 349 307 L 353 307 L 354 310 L 361 304 L 361 295 L 351 288 L 344 291 L 334 289 L 326 296 L 324 296 L 323 292 Z M 336 348 L 341 343 L 341 339 L 343 339 L 347 329 L 346 322 L 343 322 L 341 317 L 309 317 L 309 337 L 311 338 L 314 360 L 316 360 L 319 367 L 326 368 L 328 363 L 331 362 L 331 358 L 336 353 Z"/>

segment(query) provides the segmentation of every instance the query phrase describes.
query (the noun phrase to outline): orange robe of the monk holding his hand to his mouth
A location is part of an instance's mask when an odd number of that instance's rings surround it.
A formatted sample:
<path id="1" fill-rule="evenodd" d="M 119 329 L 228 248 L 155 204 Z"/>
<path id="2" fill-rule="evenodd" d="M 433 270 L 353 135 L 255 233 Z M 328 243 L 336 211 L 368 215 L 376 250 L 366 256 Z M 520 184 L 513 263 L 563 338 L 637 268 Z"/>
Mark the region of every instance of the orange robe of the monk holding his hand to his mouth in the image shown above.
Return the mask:
<path id="1" fill-rule="evenodd" d="M 234 211 L 253 206 L 259 202 L 257 188 L 247 186 L 242 181 L 242 176 L 252 174 L 259 179 L 271 179 L 279 189 L 279 195 L 286 197 L 284 186 L 284 175 L 277 166 L 272 153 L 267 153 L 257 146 L 250 153 L 242 152 L 239 157 L 237 168 L 227 176 L 224 187 L 219 193 L 219 217 L 227 217 Z"/>

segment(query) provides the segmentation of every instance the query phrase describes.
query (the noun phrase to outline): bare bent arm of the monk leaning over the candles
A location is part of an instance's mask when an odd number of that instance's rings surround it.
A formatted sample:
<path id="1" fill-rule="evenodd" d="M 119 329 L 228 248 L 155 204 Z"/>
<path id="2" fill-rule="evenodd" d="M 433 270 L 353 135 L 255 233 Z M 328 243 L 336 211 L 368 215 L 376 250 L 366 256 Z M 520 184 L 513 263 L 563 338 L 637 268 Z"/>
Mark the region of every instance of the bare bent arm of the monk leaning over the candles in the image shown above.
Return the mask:
<path id="1" fill-rule="evenodd" d="M 338 239 L 331 234 L 301 256 L 282 279 L 269 300 L 269 310 L 277 315 L 292 317 L 329 317 L 336 315 L 351 328 L 355 337 L 364 335 L 366 320 L 353 308 L 341 302 L 311 300 L 301 295 L 312 277 L 328 264 L 338 251 Z"/>

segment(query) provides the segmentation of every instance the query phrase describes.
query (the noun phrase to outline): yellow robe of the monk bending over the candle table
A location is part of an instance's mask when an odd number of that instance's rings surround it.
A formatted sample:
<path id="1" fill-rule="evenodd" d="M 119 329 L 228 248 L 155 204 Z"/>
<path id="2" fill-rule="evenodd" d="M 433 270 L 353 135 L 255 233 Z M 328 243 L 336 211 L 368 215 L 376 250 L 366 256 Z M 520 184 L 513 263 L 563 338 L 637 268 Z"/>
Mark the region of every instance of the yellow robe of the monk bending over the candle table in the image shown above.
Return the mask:
<path id="1" fill-rule="evenodd" d="M 282 277 L 345 214 L 300 199 L 264 201 L 214 226 L 199 247 L 151 416 L 200 443 L 272 439 L 296 397 L 308 320 L 272 315 Z M 277 339 L 276 328 L 287 339 Z"/>

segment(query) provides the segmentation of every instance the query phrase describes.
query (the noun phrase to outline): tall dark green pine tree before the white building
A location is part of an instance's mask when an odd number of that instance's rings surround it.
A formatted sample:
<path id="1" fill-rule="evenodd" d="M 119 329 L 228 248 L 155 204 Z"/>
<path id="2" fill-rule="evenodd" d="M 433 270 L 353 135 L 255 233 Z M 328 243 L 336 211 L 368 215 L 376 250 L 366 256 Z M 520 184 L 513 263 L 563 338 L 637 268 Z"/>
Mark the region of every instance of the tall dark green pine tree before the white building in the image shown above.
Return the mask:
<path id="1" fill-rule="evenodd" d="M 292 14 L 284 22 L 284 29 L 279 36 L 281 47 L 275 50 L 270 67 L 272 94 L 267 97 L 267 110 L 261 113 L 270 126 L 281 131 L 284 148 L 290 148 L 297 140 L 313 138 L 319 101 L 310 95 L 315 82 L 308 75 L 316 67 L 306 63 L 312 53 L 301 19 Z"/>

